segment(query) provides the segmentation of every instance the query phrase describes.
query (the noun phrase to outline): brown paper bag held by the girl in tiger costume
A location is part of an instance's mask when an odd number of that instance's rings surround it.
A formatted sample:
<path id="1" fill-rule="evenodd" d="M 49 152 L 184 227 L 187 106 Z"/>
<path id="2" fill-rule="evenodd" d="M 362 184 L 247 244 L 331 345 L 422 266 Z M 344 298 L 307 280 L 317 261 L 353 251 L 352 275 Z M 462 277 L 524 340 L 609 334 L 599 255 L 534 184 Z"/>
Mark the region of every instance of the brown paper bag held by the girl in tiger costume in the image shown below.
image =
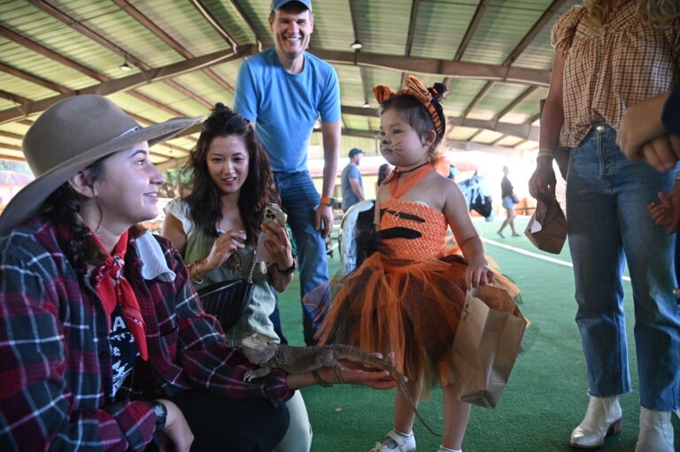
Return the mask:
<path id="1" fill-rule="evenodd" d="M 460 401 L 496 408 L 506 389 L 528 322 L 503 289 L 468 295 L 453 339 L 453 375 Z M 491 296 L 490 296 L 491 295 Z"/>

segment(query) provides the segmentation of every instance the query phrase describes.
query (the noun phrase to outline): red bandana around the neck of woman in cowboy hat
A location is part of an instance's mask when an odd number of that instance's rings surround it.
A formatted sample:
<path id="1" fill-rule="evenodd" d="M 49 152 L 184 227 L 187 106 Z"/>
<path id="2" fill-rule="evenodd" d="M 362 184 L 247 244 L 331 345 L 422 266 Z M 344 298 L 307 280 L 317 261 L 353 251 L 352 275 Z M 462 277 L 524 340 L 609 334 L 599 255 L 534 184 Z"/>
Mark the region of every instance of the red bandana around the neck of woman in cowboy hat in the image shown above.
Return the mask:
<path id="1" fill-rule="evenodd" d="M 97 241 L 107 257 L 104 264 L 99 265 L 91 272 L 90 281 L 102 299 L 109 322 L 111 322 L 111 313 L 116 309 L 116 305 L 120 304 L 123 318 L 130 333 L 135 338 L 139 354 L 146 361 L 149 357 L 146 348 L 146 324 L 142 318 L 142 312 L 139 310 L 135 291 L 123 276 L 125 252 L 128 250 L 128 231 L 120 236 L 120 240 L 113 249 L 113 255 L 108 253 L 97 235 L 92 234 L 92 238 Z"/>

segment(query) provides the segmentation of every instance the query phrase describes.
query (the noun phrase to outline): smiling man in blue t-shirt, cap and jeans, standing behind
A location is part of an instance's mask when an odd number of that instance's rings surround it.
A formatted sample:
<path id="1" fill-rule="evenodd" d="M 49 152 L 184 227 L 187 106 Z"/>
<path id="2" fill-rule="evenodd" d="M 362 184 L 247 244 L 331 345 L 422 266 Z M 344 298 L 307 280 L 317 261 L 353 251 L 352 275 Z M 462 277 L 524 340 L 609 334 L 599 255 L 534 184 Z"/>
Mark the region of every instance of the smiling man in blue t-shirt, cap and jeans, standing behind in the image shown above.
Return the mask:
<path id="1" fill-rule="evenodd" d="M 234 105 L 255 127 L 267 150 L 282 206 L 298 247 L 300 295 L 328 280 L 327 237 L 333 227 L 332 198 L 340 148 L 340 88 L 333 66 L 306 53 L 313 32 L 311 0 L 274 0 L 269 29 L 274 49 L 243 62 Z M 321 197 L 307 171 L 307 147 L 321 116 Z M 305 342 L 314 343 L 313 313 L 303 305 Z"/>

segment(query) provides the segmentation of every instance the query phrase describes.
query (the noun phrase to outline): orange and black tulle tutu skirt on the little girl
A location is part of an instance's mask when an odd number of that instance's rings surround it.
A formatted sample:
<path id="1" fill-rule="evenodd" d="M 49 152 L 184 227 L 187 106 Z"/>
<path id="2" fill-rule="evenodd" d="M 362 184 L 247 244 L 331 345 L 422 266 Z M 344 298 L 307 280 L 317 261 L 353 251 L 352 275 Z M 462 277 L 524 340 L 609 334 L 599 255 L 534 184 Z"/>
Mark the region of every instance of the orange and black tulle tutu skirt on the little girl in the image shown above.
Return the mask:
<path id="1" fill-rule="evenodd" d="M 466 298 L 467 265 L 390 259 L 375 252 L 333 297 L 319 337 L 370 352 L 395 353 L 399 372 L 415 380 L 434 371 L 445 381 Z"/>

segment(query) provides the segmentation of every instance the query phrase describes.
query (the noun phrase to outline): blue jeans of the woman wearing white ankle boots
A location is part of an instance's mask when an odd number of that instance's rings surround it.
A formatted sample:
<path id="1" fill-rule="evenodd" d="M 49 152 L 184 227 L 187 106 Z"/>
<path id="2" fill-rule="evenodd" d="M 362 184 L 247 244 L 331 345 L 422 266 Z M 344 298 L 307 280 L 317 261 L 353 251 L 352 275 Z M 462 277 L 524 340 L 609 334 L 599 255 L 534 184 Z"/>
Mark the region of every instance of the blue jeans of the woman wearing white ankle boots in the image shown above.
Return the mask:
<path id="1" fill-rule="evenodd" d="M 616 132 L 594 127 L 571 149 L 567 223 L 576 279 L 576 324 L 581 331 L 590 394 L 630 392 L 622 272 L 628 262 L 635 305 L 640 404 L 680 408 L 680 308 L 675 235 L 647 211 L 668 193 L 674 172 L 632 163 L 615 144 Z"/>

